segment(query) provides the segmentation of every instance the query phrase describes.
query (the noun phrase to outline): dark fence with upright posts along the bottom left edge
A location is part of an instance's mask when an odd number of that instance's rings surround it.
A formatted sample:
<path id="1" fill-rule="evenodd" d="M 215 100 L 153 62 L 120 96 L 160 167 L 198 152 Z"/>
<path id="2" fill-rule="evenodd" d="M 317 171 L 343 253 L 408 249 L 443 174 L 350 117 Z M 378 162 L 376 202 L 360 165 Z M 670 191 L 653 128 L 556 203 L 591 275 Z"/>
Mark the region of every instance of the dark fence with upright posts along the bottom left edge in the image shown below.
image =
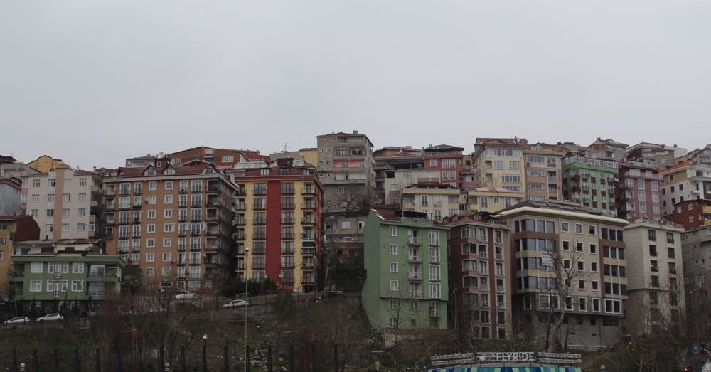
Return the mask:
<path id="1" fill-rule="evenodd" d="M 18 354 L 17 349 L 12 349 L 9 361 L 5 366 L 1 366 L 4 371 L 11 372 L 231 372 L 245 371 L 252 372 L 252 365 L 257 365 L 256 371 L 296 371 L 296 363 L 294 358 L 294 345 L 289 346 L 289 354 L 285 361 L 285 366 L 277 367 L 274 365 L 274 353 L 272 346 L 267 346 L 266 366 L 261 362 L 250 360 L 250 346 L 247 345 L 246 352 L 243 354 L 245 358 L 238 361 L 230 361 L 228 345 L 225 345 L 223 356 L 218 362 L 209 363 L 207 345 L 203 343 L 201 359 L 199 361 L 190 361 L 186 356 L 185 347 L 181 347 L 180 355 L 177 363 L 169 363 L 165 361 L 164 351 L 158 352 L 157 360 L 144 358 L 144 351 L 139 348 L 133 353 L 132 360 L 127 363 L 126 358 L 121 349 L 114 350 L 112 354 L 105 355 L 100 352 L 100 349 L 95 349 L 92 353 L 80 352 L 75 349 L 73 355 L 60 354 L 57 349 L 50 353 L 39 354 L 37 349 L 33 349 L 31 354 Z M 89 355 L 87 355 L 89 354 Z M 241 354 L 241 353 L 240 353 Z M 28 359 L 28 360 L 27 360 Z M 309 366 L 302 366 L 300 371 L 343 371 L 345 366 L 338 361 L 338 345 L 333 345 L 333 357 L 331 358 L 331 366 L 328 366 L 328 358 L 316 358 L 316 346 L 311 345 L 309 350 Z M 199 368 L 199 369 L 198 369 Z M 306 369 L 308 368 L 308 369 Z"/>

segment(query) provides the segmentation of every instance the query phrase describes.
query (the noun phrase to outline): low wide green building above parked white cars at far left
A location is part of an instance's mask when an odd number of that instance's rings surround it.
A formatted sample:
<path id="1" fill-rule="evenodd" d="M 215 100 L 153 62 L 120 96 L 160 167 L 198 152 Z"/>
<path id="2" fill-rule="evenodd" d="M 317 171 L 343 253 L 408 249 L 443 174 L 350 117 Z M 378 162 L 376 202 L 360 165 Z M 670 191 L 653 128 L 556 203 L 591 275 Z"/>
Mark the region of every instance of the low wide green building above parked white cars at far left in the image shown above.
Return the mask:
<path id="1" fill-rule="evenodd" d="M 124 260 L 95 253 L 39 253 L 12 257 L 10 275 L 16 301 L 100 301 L 121 292 Z"/>

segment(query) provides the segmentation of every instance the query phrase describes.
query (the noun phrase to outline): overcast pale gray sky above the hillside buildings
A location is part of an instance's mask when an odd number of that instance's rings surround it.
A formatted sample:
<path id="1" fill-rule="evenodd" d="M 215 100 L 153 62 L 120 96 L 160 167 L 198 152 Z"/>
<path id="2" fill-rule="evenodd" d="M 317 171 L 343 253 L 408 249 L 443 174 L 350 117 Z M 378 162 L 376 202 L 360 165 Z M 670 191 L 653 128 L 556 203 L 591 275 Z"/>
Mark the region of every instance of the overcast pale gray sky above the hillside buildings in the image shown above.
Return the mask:
<path id="1" fill-rule="evenodd" d="M 711 142 L 711 1 L 3 1 L 0 153 Z"/>

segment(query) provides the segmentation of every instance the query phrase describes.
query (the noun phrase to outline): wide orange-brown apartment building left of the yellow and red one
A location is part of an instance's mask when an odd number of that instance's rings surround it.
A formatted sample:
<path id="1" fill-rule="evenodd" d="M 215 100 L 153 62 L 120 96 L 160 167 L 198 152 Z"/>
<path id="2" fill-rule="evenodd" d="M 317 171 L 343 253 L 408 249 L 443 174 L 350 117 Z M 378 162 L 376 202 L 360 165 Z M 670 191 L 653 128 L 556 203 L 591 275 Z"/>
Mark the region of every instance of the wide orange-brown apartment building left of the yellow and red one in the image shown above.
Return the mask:
<path id="1" fill-rule="evenodd" d="M 106 253 L 146 285 L 195 291 L 229 277 L 237 188 L 214 164 L 119 168 L 104 179 Z"/>

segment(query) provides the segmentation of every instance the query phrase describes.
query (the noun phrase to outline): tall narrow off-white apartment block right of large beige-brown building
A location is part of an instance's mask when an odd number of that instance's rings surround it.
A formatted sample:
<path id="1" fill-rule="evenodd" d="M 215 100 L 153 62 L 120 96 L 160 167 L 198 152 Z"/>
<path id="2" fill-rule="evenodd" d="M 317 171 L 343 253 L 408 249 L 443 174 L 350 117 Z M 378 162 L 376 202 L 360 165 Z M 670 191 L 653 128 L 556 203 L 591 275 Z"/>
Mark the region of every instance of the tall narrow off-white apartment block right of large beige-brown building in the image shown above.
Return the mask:
<path id="1" fill-rule="evenodd" d="M 684 272 L 680 225 L 649 218 L 624 228 L 627 326 L 635 336 L 660 334 L 684 319 Z"/>

